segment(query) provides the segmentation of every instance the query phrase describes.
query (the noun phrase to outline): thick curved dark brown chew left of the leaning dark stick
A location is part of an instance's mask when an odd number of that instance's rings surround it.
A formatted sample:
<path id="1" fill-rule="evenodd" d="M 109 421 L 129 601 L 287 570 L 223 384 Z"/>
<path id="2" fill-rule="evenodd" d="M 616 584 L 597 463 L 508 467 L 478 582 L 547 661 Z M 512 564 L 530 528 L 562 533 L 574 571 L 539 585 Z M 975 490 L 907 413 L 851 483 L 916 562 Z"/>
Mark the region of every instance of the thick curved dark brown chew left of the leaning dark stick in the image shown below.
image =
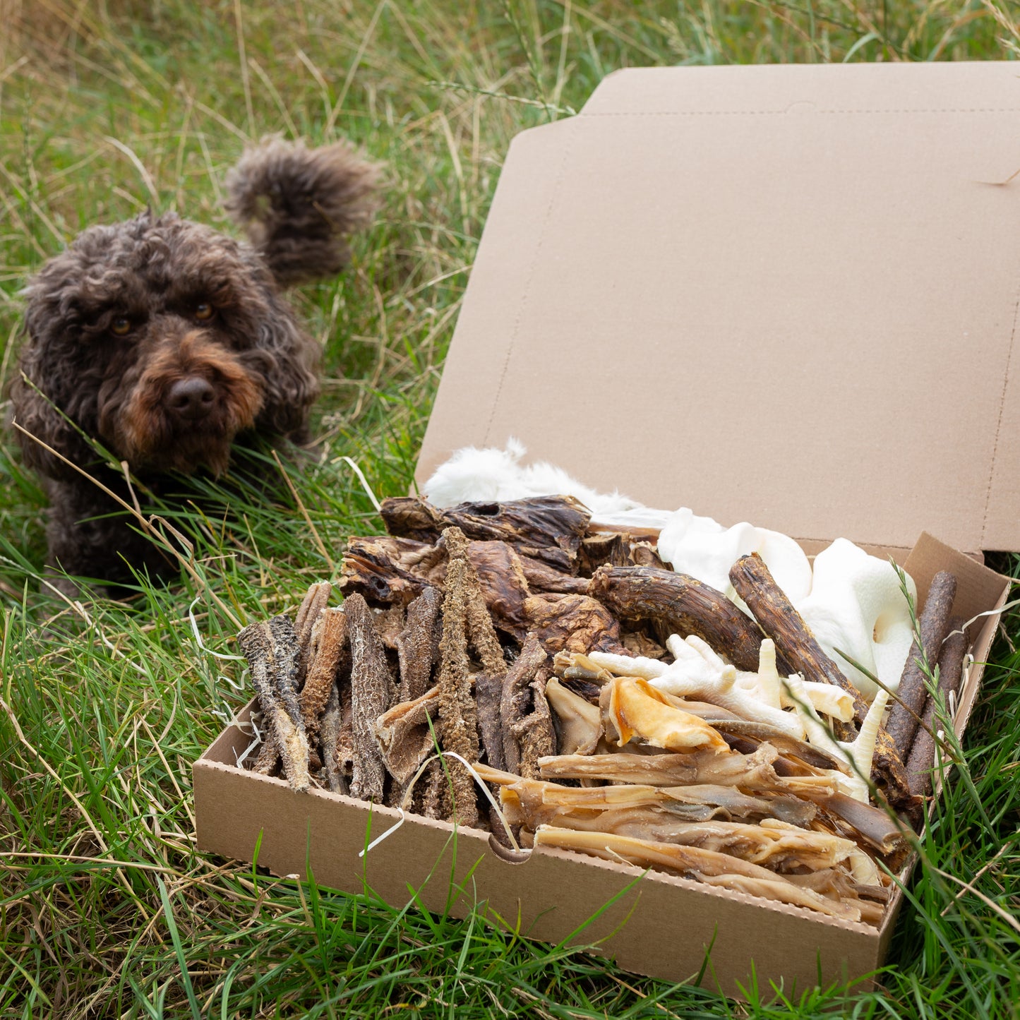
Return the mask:
<path id="1" fill-rule="evenodd" d="M 600 567 L 591 594 L 623 620 L 652 620 L 665 636 L 697 634 L 737 669 L 758 670 L 762 632 L 722 592 L 655 567 Z M 779 672 L 788 675 L 781 657 Z"/>

